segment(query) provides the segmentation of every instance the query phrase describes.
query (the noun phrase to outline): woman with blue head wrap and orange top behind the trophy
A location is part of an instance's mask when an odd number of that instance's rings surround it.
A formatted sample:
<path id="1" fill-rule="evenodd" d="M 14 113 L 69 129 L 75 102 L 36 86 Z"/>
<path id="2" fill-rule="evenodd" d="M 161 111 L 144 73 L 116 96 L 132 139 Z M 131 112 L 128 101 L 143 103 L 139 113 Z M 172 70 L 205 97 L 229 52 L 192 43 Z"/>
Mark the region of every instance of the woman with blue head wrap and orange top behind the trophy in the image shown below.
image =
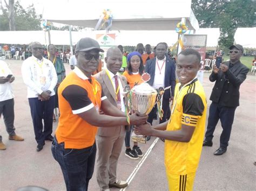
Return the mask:
<path id="1" fill-rule="evenodd" d="M 142 61 L 142 55 L 139 52 L 131 52 L 127 56 L 127 67 L 123 75 L 127 79 L 127 83 L 133 88 L 137 84 L 143 83 L 142 74 L 144 73 L 144 66 Z M 130 147 L 131 130 L 133 125 L 131 125 L 130 131 L 126 131 L 125 135 L 125 155 L 130 159 L 137 160 L 139 157 L 143 157 L 143 153 L 138 147 L 138 143 L 134 142 L 133 148 Z"/>

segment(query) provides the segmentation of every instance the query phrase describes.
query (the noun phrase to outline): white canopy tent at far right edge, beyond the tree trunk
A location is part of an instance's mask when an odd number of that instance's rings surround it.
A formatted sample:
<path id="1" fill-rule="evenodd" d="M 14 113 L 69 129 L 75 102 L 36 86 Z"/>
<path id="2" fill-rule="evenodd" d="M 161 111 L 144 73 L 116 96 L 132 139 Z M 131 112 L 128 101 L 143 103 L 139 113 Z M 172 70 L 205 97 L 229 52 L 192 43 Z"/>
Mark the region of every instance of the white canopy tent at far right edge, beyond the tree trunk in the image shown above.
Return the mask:
<path id="1" fill-rule="evenodd" d="M 234 35 L 234 43 L 240 44 L 244 48 L 256 48 L 256 27 L 238 28 Z"/>

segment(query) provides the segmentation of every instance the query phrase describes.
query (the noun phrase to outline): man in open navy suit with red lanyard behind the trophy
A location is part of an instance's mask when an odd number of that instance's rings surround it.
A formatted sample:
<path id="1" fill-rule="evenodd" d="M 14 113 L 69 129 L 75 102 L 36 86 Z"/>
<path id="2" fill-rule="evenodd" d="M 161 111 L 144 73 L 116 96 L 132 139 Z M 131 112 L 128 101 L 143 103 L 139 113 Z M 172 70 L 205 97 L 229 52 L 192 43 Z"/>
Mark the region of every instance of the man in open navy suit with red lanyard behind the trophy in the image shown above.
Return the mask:
<path id="1" fill-rule="evenodd" d="M 171 88 L 165 90 L 163 95 L 162 109 L 164 111 L 164 116 L 160 119 L 159 123 L 164 123 L 166 118 L 169 117 L 166 114 L 167 110 L 170 110 L 169 103 L 170 100 L 173 100 L 174 88 L 176 85 L 175 64 L 168 56 L 165 56 L 166 49 L 164 43 L 159 43 L 156 48 L 156 58 L 147 60 L 145 66 L 145 72 L 149 73 L 151 76 L 151 79 L 148 82 L 150 86 L 156 89 L 159 87 L 166 88 L 171 86 Z M 152 124 L 156 110 L 157 107 L 152 109 L 147 122 Z"/>

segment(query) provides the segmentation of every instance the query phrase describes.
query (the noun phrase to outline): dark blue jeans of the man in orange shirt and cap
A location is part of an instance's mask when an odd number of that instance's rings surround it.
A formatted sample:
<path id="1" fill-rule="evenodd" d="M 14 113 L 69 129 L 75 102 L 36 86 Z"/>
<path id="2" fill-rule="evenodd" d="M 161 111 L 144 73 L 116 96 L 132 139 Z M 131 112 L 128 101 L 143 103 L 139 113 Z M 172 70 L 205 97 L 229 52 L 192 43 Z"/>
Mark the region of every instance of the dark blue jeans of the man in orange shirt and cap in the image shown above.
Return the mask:
<path id="1" fill-rule="evenodd" d="M 58 144 L 55 137 L 51 151 L 62 169 L 66 190 L 88 190 L 95 165 L 96 143 L 82 149 L 64 148 L 64 143 Z"/>

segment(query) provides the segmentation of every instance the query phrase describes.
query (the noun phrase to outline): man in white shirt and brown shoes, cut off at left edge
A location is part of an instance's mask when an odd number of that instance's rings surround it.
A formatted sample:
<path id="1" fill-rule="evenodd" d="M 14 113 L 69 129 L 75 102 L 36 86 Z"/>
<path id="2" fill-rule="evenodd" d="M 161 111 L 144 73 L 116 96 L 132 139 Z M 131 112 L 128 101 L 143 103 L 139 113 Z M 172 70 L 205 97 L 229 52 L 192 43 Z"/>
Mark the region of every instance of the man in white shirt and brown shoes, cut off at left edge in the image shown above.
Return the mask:
<path id="1" fill-rule="evenodd" d="M 7 64 L 0 60 L 0 118 L 3 114 L 6 131 L 10 140 L 22 141 L 24 138 L 15 133 L 14 127 L 14 94 L 12 93 L 11 83 L 15 80 Z M 2 142 L 0 135 L 0 150 L 5 150 L 6 146 Z"/>

